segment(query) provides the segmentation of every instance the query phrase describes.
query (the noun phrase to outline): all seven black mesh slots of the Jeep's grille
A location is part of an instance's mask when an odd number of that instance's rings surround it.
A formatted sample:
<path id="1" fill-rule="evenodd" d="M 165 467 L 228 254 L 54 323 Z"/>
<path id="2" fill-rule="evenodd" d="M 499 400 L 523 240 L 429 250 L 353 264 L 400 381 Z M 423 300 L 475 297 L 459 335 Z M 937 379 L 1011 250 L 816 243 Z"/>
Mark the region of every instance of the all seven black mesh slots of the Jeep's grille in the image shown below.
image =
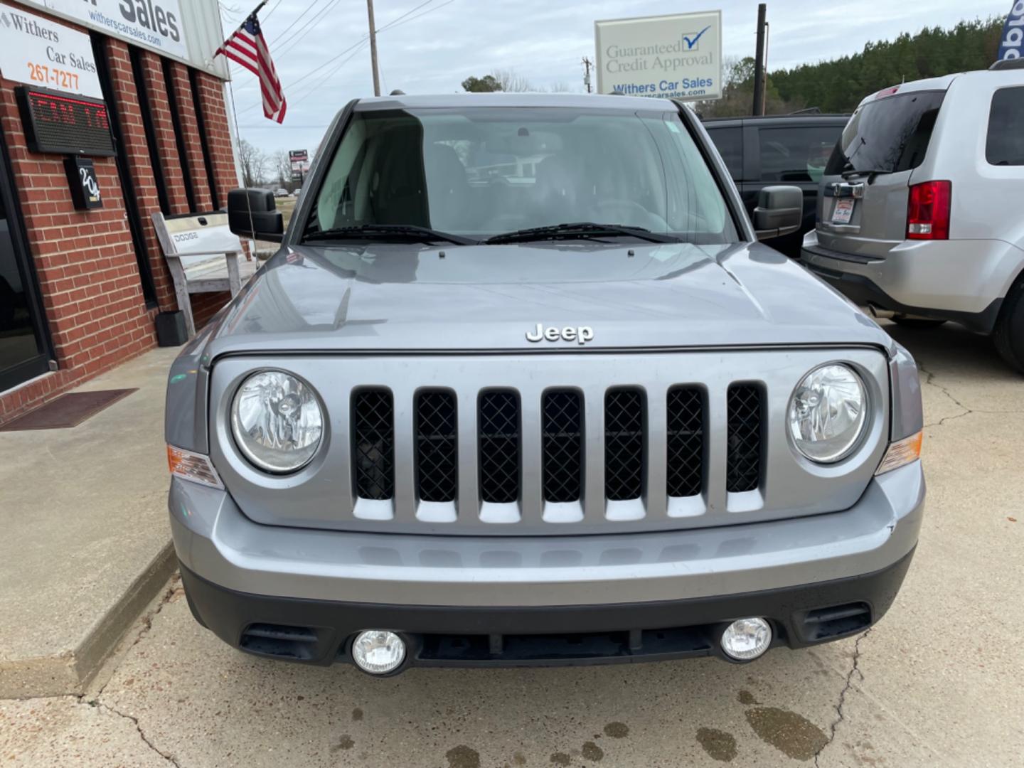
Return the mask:
<path id="1" fill-rule="evenodd" d="M 581 502 L 586 447 L 583 394 L 551 389 L 541 398 L 541 498 L 545 503 Z M 734 384 L 727 395 L 726 490 L 756 490 L 761 476 L 761 390 Z M 459 488 L 459 430 L 456 394 L 420 390 L 415 398 L 416 496 L 454 503 Z M 705 485 L 705 395 L 699 387 L 674 386 L 665 409 L 665 493 L 671 499 L 698 497 Z M 640 501 L 647 475 L 644 392 L 617 388 L 604 395 L 604 498 Z M 394 497 L 394 406 L 385 389 L 364 389 L 352 399 L 355 490 L 360 499 Z M 521 414 L 509 390 L 487 390 L 477 400 L 480 501 L 512 504 L 521 498 Z"/>

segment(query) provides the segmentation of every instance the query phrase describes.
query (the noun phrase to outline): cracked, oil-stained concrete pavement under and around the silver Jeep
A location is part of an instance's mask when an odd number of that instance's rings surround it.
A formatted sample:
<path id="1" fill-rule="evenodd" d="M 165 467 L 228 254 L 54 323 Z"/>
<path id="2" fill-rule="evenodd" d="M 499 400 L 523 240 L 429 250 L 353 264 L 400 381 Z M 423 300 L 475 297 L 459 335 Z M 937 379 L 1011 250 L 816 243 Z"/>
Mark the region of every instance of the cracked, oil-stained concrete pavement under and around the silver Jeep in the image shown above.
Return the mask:
<path id="1" fill-rule="evenodd" d="M 0 706 L 5 765 L 1010 766 L 1024 387 L 956 326 L 887 326 L 922 369 L 928 511 L 907 581 L 865 635 L 760 662 L 372 679 L 243 655 L 174 583 L 79 697 Z"/>

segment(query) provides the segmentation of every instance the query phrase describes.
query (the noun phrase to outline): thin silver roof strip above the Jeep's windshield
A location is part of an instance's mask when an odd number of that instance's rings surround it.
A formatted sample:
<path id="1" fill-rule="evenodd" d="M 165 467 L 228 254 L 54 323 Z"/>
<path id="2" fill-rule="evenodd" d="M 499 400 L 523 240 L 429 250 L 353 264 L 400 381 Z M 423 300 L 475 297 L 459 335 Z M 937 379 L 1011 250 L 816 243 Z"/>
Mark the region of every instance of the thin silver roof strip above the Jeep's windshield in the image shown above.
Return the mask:
<path id="1" fill-rule="evenodd" d="M 445 106 L 562 106 L 570 110 L 669 110 L 679 108 L 666 98 L 601 95 L 596 93 L 447 93 L 433 96 L 376 96 L 360 98 L 358 111 L 438 109 Z"/>

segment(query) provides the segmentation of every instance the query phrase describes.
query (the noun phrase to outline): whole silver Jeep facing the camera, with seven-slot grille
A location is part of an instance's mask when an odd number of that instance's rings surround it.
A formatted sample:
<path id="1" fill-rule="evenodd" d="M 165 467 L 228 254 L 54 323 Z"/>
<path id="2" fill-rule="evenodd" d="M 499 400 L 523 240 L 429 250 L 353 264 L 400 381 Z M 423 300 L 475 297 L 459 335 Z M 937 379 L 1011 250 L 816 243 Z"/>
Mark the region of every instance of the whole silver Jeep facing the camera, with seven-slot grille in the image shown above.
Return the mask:
<path id="1" fill-rule="evenodd" d="M 411 666 L 757 658 L 879 621 L 924 509 L 910 355 L 758 241 L 682 104 L 357 100 L 281 250 L 181 352 L 170 517 L 245 651 Z"/>

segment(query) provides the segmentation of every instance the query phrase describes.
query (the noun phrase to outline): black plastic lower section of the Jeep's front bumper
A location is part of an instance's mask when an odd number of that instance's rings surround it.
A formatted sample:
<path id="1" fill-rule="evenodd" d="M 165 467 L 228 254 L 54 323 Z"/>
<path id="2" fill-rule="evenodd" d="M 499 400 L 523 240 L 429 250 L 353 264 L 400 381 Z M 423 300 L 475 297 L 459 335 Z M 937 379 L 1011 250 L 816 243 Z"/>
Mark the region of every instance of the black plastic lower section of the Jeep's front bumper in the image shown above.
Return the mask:
<path id="1" fill-rule="evenodd" d="M 626 605 L 450 607 L 267 597 L 218 587 L 181 567 L 188 606 L 221 640 L 255 655 L 350 660 L 361 630 L 397 632 L 408 667 L 553 667 L 717 655 L 730 622 L 761 616 L 772 646 L 800 648 L 864 631 L 892 605 L 913 556 L 883 570 L 742 595 Z"/>

